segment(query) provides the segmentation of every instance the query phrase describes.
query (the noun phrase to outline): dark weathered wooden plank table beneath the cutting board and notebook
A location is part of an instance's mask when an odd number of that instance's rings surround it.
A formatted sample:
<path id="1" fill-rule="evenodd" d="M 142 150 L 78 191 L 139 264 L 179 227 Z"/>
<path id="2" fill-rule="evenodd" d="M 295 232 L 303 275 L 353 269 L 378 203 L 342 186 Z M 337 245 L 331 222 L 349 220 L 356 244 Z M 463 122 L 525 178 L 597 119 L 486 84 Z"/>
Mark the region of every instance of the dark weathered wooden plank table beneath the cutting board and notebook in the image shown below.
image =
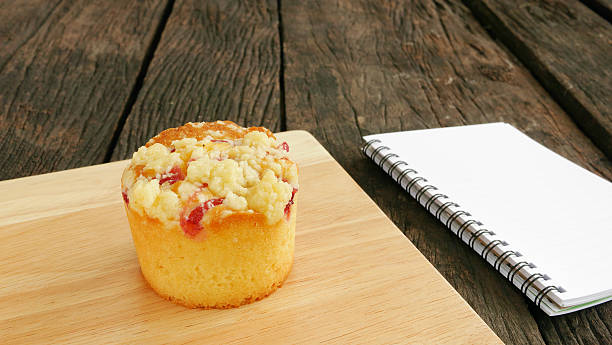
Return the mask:
<path id="1" fill-rule="evenodd" d="M 588 6 L 588 7 L 587 7 Z M 610 0 L 5 1 L 0 178 L 128 158 L 160 130 L 305 129 L 512 344 L 612 343 L 612 303 L 547 317 L 359 153 L 505 121 L 612 178 Z"/>

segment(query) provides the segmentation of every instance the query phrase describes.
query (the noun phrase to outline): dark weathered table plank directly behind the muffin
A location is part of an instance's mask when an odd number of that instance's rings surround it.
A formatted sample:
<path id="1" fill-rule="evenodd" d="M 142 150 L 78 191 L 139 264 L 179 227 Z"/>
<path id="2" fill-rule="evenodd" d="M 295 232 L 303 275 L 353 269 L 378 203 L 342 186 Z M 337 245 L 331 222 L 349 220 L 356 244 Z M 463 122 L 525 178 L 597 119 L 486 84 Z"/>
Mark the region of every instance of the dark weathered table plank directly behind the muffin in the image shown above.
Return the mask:
<path id="1" fill-rule="evenodd" d="M 189 121 L 280 130 L 276 1 L 177 1 L 113 159 Z"/>

